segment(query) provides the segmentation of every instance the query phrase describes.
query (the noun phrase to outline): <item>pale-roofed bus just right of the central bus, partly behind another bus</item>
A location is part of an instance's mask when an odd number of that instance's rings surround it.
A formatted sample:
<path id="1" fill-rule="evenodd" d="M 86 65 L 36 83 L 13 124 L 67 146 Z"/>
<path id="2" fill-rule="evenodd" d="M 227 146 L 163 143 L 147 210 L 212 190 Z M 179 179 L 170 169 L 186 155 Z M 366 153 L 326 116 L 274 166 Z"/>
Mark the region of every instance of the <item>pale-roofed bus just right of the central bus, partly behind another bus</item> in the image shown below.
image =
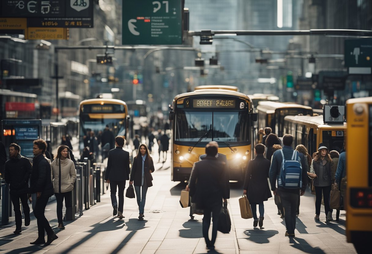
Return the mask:
<path id="1" fill-rule="evenodd" d="M 272 133 L 283 137 L 284 117 L 287 115 L 312 115 L 312 108 L 299 104 L 260 101 L 257 106 L 258 129 L 270 127 Z"/>

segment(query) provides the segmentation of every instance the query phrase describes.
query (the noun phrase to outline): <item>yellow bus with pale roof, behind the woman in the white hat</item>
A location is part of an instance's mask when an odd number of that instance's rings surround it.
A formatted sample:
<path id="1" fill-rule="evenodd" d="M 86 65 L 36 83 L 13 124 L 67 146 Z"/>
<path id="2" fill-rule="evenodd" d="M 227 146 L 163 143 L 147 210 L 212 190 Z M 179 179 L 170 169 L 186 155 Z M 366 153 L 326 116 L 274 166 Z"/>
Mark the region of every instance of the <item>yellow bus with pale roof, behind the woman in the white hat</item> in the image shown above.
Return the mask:
<path id="1" fill-rule="evenodd" d="M 324 124 L 323 115 L 289 115 L 284 117 L 284 134 L 294 138 L 293 147 L 303 144 L 312 156 L 318 152 L 320 143 L 324 143 L 328 151 L 340 152 L 344 144 L 346 123 Z"/>

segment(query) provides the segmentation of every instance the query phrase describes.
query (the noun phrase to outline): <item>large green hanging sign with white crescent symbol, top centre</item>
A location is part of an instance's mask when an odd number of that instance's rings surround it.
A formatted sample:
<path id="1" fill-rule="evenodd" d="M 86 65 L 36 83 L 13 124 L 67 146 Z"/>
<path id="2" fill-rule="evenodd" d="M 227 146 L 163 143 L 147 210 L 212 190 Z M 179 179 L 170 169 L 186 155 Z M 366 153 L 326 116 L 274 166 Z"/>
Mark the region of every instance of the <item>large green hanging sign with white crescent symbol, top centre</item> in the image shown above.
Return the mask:
<path id="1" fill-rule="evenodd" d="M 123 1 L 123 45 L 181 45 L 182 0 Z"/>

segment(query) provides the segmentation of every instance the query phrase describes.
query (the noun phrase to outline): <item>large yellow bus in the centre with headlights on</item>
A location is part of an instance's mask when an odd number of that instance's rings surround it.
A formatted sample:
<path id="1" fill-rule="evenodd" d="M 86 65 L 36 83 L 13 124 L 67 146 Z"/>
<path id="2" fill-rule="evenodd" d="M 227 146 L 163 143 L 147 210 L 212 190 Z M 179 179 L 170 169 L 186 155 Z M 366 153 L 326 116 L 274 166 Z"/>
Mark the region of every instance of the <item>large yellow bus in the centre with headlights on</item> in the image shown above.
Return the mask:
<path id="1" fill-rule="evenodd" d="M 177 95 L 169 118 L 172 122 L 171 180 L 189 180 L 194 162 L 205 145 L 217 141 L 225 154 L 230 180 L 243 180 L 252 156 L 253 113 L 249 97 L 218 86 Z"/>

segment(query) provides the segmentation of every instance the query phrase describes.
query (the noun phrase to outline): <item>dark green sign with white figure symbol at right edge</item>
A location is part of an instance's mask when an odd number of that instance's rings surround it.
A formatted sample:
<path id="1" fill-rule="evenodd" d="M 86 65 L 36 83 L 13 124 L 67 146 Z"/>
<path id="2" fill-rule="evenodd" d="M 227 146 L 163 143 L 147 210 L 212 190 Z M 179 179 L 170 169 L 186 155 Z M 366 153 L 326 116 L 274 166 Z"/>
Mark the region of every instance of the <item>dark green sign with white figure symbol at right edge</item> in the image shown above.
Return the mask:
<path id="1" fill-rule="evenodd" d="M 345 67 L 372 67 L 372 38 L 345 40 Z"/>

